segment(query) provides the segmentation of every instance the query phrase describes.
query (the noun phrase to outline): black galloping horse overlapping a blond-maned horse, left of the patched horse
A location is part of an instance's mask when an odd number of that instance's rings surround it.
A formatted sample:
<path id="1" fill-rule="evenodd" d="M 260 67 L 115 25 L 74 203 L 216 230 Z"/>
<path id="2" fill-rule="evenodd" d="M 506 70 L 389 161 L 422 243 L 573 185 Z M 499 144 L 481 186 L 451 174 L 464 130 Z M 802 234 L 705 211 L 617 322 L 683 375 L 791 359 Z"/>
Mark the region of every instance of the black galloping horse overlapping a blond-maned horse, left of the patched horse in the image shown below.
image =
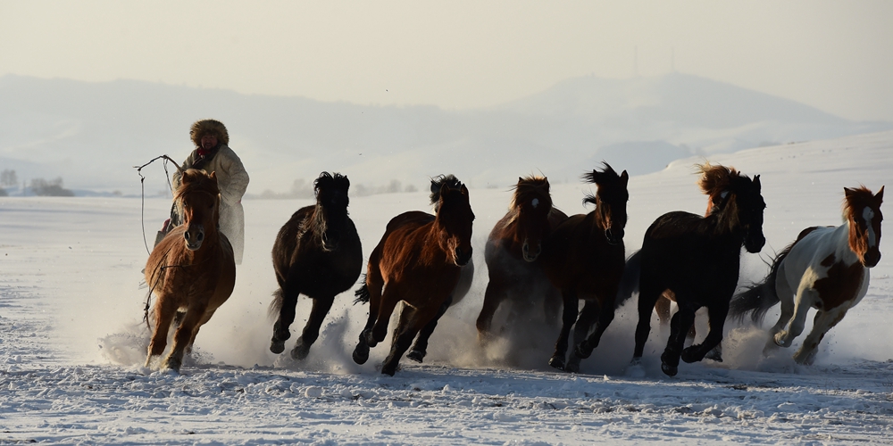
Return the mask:
<path id="1" fill-rule="evenodd" d="M 753 180 L 735 169 L 701 166 L 701 189 L 710 196 L 706 217 L 689 212 L 663 214 L 648 227 L 642 249 L 627 261 L 618 306 L 635 292 L 638 282 L 638 326 L 633 363 L 642 357 L 655 302 L 664 291 L 675 294 L 679 310 L 670 321 L 670 340 L 661 355 L 661 369 L 675 376 L 679 359 L 696 362 L 722 341 L 729 302 L 738 285 L 741 245 L 760 252 L 763 211 L 760 176 Z M 703 343 L 683 350 L 695 311 L 707 307 L 710 332 Z"/>

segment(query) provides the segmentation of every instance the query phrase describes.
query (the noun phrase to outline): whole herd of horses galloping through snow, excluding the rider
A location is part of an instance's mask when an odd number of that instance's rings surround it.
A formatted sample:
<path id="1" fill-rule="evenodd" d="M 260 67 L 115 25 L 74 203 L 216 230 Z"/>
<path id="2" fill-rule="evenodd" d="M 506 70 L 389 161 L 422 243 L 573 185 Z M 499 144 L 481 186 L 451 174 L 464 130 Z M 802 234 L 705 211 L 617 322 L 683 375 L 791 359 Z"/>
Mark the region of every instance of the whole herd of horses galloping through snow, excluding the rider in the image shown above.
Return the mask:
<path id="1" fill-rule="evenodd" d="M 807 310 L 815 308 L 813 330 L 794 355 L 799 363 L 811 363 L 822 336 L 864 297 L 869 268 L 880 260 L 883 187 L 877 194 L 864 186 L 845 188 L 843 225 L 806 228 L 772 260 L 762 282 L 736 295 L 742 246 L 760 252 L 765 244 L 760 177 L 710 164 L 701 166 L 700 174 L 699 186 L 708 196 L 705 215 L 664 214 L 629 259 L 623 244 L 630 197 L 625 170 L 618 174 L 604 163 L 585 174 L 583 180 L 597 192 L 584 202 L 595 209 L 570 217 L 553 207 L 547 178 L 519 178 L 510 209 L 485 247 L 489 281 L 476 321 L 480 343 L 493 337 L 500 304 L 524 296 L 553 318 L 560 312 L 561 332 L 549 364 L 577 372 L 580 360 L 597 348 L 614 310 L 638 292 L 634 362 L 642 357 L 652 311 L 666 320 L 669 302 L 678 306 L 661 356 L 668 376 L 677 374 L 680 359 L 722 360 L 726 318 L 750 314 L 760 321 L 779 302 L 781 316 L 765 351 L 788 347 L 802 333 Z M 270 309 L 276 317 L 273 353 L 285 350 L 298 295 L 313 300 L 290 352 L 294 359 L 305 359 L 335 297 L 355 285 L 363 269 L 360 238 L 347 214 L 350 182 L 323 172 L 313 186 L 316 203 L 292 215 L 272 249 L 280 286 Z M 217 229 L 220 191 L 214 173 L 186 170 L 175 200 L 181 202 L 184 223 L 155 246 L 146 263 L 146 284 L 156 297 L 147 318 L 154 321 L 154 334 L 146 367 L 160 358 L 173 327 L 173 346 L 161 366 L 179 370 L 199 328 L 232 293 L 235 266 L 230 243 Z M 405 303 L 381 367 L 391 376 L 406 351 L 409 359 L 424 359 L 438 319 L 471 287 L 474 213 L 468 188 L 452 175 L 433 178 L 430 203 L 433 214 L 409 211 L 390 220 L 355 292 L 356 302 L 369 303 L 353 352 L 358 364 L 384 341 L 397 303 Z M 709 333 L 701 343 L 684 347 L 701 307 L 707 309 Z"/>

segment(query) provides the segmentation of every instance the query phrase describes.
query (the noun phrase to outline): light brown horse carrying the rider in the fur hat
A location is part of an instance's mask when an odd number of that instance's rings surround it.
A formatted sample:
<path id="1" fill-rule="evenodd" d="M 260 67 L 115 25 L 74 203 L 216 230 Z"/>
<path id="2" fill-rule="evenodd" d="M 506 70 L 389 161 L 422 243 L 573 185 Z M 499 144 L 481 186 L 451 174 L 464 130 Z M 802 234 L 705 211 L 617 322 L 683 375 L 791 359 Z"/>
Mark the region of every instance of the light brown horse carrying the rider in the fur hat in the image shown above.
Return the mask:
<path id="1" fill-rule="evenodd" d="M 179 323 L 171 353 L 163 362 L 163 367 L 179 371 L 198 329 L 230 298 L 236 263 L 230 241 L 218 230 L 221 198 L 216 174 L 186 170 L 174 199 L 183 209 L 183 224 L 171 230 L 146 261 L 146 284 L 156 296 L 146 367 L 163 353 L 171 323 Z"/>

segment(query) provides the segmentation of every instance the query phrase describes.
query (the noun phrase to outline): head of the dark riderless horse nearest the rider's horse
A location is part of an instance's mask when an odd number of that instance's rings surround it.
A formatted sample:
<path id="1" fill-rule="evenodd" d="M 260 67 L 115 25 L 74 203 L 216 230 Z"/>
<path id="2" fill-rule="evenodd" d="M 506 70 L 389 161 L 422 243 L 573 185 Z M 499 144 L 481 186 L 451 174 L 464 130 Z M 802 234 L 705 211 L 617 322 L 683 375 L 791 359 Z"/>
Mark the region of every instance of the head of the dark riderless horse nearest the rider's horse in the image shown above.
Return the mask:
<path id="1" fill-rule="evenodd" d="M 319 236 L 323 251 L 337 250 L 346 230 L 349 187 L 350 180 L 339 173 L 322 172 L 320 178 L 313 181 L 313 193 L 316 194 L 313 232 Z"/>

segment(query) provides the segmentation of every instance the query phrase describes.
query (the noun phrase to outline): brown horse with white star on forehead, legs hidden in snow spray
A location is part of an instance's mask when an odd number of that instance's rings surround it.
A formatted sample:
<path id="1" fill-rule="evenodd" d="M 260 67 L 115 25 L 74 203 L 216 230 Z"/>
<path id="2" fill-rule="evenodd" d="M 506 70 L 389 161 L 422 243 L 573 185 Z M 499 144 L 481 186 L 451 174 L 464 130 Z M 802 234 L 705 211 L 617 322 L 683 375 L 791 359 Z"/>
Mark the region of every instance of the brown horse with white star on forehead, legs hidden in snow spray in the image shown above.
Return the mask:
<path id="1" fill-rule="evenodd" d="M 489 281 L 476 323 L 479 341 L 487 340 L 493 315 L 505 300 L 512 305 L 510 319 L 532 315 L 534 308 L 544 310 L 550 322 L 557 319 L 561 293 L 537 260 L 552 229 L 565 219 L 552 206 L 547 178 L 518 178 L 509 211 L 490 231 L 484 248 Z"/>

